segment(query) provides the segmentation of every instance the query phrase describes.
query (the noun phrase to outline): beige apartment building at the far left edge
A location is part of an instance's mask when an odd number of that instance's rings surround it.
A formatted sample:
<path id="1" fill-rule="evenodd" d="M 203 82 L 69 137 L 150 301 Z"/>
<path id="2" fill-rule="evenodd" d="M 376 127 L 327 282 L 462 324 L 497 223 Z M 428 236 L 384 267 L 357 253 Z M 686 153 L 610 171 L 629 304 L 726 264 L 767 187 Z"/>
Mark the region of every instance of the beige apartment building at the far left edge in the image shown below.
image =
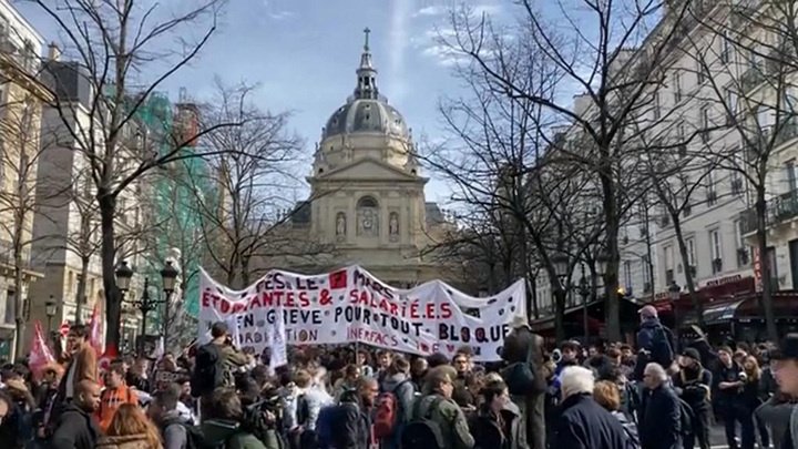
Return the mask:
<path id="1" fill-rule="evenodd" d="M 0 358 L 13 356 L 14 317 L 30 317 L 31 236 L 39 129 L 49 93 L 31 78 L 43 39 L 7 0 L 0 0 Z M 22 310 L 19 309 L 22 307 Z"/>

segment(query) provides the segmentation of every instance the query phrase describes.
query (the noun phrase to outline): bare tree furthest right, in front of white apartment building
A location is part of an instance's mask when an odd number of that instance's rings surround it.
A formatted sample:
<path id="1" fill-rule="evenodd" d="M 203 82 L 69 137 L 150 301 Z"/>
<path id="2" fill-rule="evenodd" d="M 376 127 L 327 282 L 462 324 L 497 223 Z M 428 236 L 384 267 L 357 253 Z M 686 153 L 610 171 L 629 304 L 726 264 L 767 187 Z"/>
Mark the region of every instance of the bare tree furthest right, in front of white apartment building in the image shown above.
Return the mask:
<path id="1" fill-rule="evenodd" d="M 798 90 L 791 81 L 798 70 L 796 4 L 725 0 L 689 11 L 690 25 L 696 31 L 685 39 L 683 48 L 695 55 L 698 70 L 706 78 L 700 100 L 715 125 L 712 139 L 715 144 L 703 154 L 719 161 L 729 173 L 734 195 L 744 193 L 744 183 L 750 190 L 754 207 L 744 215 L 743 227 L 744 232 L 755 234 L 761 307 L 768 337 L 775 340 L 776 286 L 767 256 L 768 226 L 782 202 L 774 193 L 779 155 L 785 143 L 798 135 Z"/>

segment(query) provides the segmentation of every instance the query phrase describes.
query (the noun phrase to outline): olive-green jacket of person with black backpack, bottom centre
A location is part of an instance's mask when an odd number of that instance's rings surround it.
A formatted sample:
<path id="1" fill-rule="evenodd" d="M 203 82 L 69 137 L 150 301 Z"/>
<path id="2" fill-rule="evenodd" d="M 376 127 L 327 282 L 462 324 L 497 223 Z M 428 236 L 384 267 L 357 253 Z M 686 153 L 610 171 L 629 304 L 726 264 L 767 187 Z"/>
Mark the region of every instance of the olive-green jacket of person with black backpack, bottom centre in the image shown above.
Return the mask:
<path id="1" fill-rule="evenodd" d="M 432 409 L 433 402 L 438 406 Z M 446 399 L 438 392 L 416 399 L 413 404 L 412 419 L 421 419 L 429 416 L 440 426 L 446 449 L 471 449 L 474 439 L 468 427 L 468 420 L 460 407 L 451 399 Z"/>

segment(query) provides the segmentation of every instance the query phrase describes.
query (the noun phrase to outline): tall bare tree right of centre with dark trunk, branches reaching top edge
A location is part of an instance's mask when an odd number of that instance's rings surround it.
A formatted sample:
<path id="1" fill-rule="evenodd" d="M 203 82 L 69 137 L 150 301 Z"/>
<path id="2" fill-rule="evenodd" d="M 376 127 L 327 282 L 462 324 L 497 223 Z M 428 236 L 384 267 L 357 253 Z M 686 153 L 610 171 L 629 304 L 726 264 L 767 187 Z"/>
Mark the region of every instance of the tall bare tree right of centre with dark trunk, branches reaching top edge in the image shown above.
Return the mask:
<path id="1" fill-rule="evenodd" d="M 493 29 L 484 17 L 474 20 L 472 16 L 453 14 L 454 33 L 444 41 L 490 80 L 490 89 L 542 108 L 549 123 L 538 125 L 541 133 L 551 135 L 552 123 L 567 123 L 571 133 L 584 136 L 583 144 L 571 147 L 569 156 L 595 175 L 603 204 L 603 239 L 608 255 L 604 273 L 607 338 L 616 340 L 621 338 L 618 231 L 633 200 L 626 193 L 635 192 L 631 183 L 638 181 L 618 176 L 634 173 L 628 165 L 637 165 L 640 145 L 632 145 L 632 152 L 627 145 L 636 139 L 628 132 L 631 122 L 648 104 L 646 92 L 651 85 L 659 82 L 661 64 L 686 7 L 655 0 L 582 0 L 579 4 L 557 1 L 557 7 L 546 8 L 548 12 L 559 12 L 552 17 L 538 11 L 533 1 L 519 3 L 522 18 L 513 34 L 515 40 L 526 42 L 530 54 L 543 55 L 544 64 L 557 74 L 557 85 L 566 86 L 570 93 L 584 91 L 586 104 L 572 109 L 561 101 L 564 92 L 542 95 L 530 89 L 523 82 L 528 78 L 519 75 L 519 64 L 510 59 L 513 53 L 503 51 L 508 31 Z M 667 20 L 651 30 L 648 23 L 661 14 Z M 564 28 L 567 31 L 562 31 Z M 646 35 L 643 49 L 634 54 L 625 50 L 637 48 Z"/>

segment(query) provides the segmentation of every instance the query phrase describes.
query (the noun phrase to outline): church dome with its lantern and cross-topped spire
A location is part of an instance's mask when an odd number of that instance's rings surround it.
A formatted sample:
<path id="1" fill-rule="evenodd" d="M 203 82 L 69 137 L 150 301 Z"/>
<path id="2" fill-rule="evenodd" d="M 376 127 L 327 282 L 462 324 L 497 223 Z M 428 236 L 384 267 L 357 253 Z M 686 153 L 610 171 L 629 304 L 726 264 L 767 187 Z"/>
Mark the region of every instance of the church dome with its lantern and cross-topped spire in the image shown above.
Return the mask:
<path id="1" fill-rule="evenodd" d="M 410 133 L 405 118 L 388 100 L 380 95 L 377 88 L 377 69 L 371 64 L 371 52 L 366 44 L 360 55 L 360 67 L 356 70 L 357 86 L 346 104 L 338 108 L 327 121 L 321 140 L 339 134 L 379 133 L 400 139 L 409 139 Z"/>

